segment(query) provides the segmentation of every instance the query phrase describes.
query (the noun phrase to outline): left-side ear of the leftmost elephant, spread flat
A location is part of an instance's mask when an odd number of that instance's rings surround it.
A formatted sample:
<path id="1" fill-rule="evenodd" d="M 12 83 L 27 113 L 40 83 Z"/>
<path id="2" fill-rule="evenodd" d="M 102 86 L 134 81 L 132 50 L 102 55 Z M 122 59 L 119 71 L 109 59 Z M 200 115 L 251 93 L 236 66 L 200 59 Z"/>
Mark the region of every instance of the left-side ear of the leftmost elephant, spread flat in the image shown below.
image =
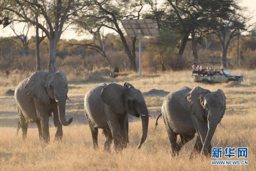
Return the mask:
<path id="1" fill-rule="evenodd" d="M 27 80 L 27 94 L 43 104 L 49 104 L 50 97 L 45 87 L 44 78 L 50 72 L 34 72 Z"/>

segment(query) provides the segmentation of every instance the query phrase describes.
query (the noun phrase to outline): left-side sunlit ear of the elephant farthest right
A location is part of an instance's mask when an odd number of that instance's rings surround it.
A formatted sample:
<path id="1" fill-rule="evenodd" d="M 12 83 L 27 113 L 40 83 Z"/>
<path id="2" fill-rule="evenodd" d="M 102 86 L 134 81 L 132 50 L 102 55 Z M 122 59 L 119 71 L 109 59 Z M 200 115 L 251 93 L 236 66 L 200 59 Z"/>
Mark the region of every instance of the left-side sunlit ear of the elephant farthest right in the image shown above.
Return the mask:
<path id="1" fill-rule="evenodd" d="M 202 87 L 195 87 L 185 97 L 189 101 L 190 113 L 195 115 L 195 117 L 201 121 L 203 121 L 204 114 L 204 109 L 201 103 L 204 95 L 208 92 L 210 91 L 203 89 Z"/>

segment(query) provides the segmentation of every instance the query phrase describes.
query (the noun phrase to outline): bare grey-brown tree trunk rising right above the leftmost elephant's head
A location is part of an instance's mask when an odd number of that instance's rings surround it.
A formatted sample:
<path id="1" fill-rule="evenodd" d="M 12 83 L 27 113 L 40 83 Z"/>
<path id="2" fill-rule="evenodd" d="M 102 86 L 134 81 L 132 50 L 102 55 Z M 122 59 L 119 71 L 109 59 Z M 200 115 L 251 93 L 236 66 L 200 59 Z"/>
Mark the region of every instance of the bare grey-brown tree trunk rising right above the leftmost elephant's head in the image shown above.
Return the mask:
<path id="1" fill-rule="evenodd" d="M 57 39 L 49 39 L 49 72 L 56 72 Z"/>

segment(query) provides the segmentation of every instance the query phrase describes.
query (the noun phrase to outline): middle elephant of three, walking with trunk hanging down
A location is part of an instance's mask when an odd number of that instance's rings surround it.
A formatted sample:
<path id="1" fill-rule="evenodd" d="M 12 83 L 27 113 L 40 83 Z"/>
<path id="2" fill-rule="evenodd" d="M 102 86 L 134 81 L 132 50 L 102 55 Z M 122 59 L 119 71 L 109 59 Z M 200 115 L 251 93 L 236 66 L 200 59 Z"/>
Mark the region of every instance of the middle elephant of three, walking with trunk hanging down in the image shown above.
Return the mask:
<path id="1" fill-rule="evenodd" d="M 141 116 L 142 137 L 138 149 L 148 134 L 148 108 L 140 90 L 125 83 L 101 83 L 90 89 L 84 98 L 84 110 L 93 137 L 93 147 L 98 148 L 98 129 L 103 129 L 107 140 L 105 151 L 110 151 L 114 139 L 114 149 L 119 152 L 128 143 L 128 114 Z"/>

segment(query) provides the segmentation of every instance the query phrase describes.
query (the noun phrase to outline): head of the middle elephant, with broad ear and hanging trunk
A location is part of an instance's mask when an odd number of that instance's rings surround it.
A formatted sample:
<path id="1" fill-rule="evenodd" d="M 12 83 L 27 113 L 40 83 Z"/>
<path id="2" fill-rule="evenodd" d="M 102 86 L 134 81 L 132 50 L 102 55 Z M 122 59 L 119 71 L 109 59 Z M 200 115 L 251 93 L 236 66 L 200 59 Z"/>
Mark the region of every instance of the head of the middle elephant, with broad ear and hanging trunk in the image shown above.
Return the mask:
<path id="1" fill-rule="evenodd" d="M 140 90 L 135 89 L 133 85 L 127 83 L 121 86 L 115 83 L 109 84 L 102 89 L 101 99 L 109 105 L 113 111 L 122 115 L 125 112 L 136 117 L 141 116 L 142 137 L 138 148 L 148 135 L 148 108 Z"/>

